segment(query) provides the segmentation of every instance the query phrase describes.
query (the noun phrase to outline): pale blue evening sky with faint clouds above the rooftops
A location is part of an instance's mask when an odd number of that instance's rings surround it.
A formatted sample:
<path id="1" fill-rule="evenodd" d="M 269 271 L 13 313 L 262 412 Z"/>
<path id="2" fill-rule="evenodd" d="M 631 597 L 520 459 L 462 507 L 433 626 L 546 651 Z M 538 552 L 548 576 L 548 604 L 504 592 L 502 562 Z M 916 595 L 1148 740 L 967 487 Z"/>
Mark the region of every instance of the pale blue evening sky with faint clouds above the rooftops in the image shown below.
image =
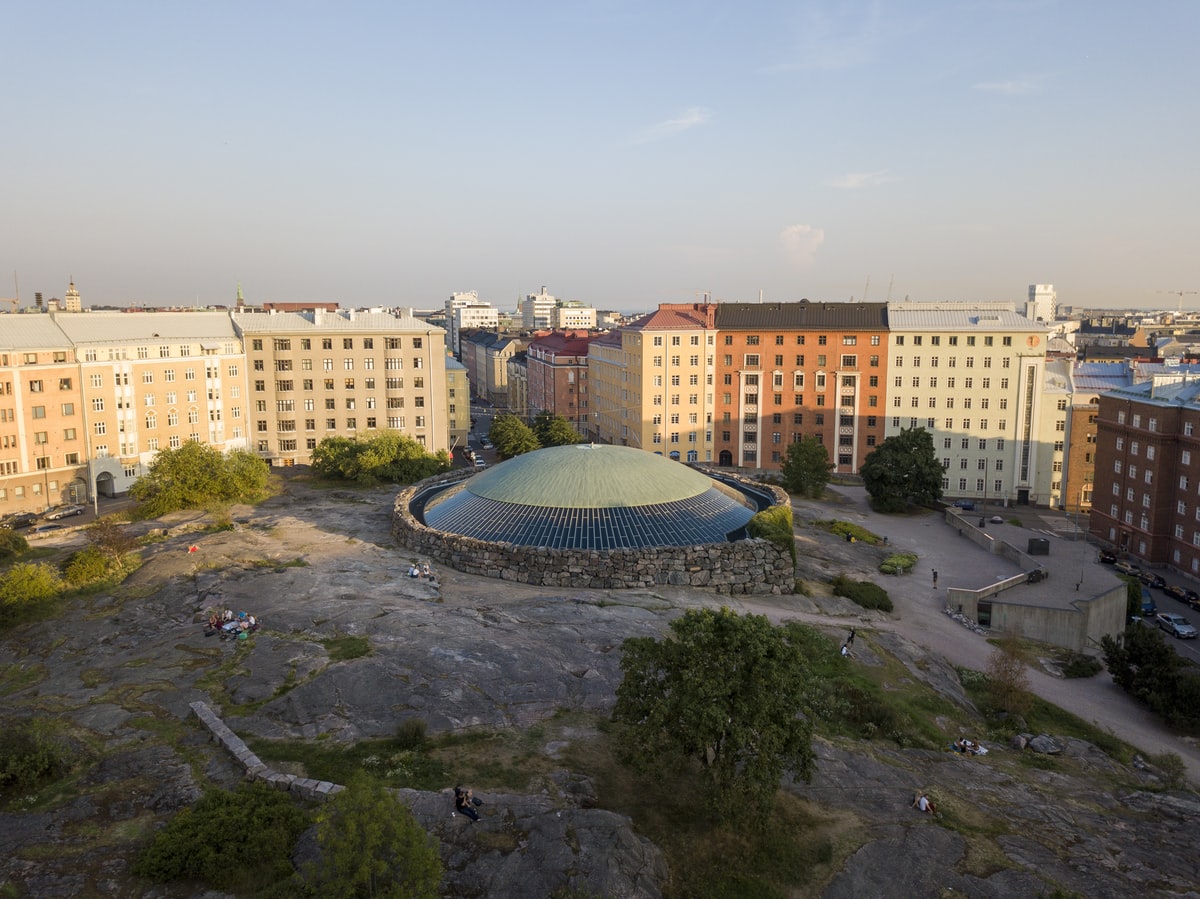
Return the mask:
<path id="1" fill-rule="evenodd" d="M 1200 307 L 1200 4 L 10 4 L 0 296 Z M 869 287 L 868 287 L 869 280 Z"/>

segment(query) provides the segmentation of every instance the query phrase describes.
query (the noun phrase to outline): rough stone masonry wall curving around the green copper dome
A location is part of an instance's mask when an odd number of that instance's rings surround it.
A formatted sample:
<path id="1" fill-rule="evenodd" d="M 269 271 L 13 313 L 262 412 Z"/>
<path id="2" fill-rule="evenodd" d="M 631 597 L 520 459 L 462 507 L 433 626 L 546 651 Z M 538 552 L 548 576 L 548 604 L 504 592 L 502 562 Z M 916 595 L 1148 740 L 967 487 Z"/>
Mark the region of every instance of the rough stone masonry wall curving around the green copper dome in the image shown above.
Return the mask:
<path id="1" fill-rule="evenodd" d="M 468 472 L 466 477 L 474 474 Z M 792 593 L 792 557 L 767 540 L 738 540 L 701 546 L 625 550 L 547 550 L 487 543 L 426 527 L 410 511 L 414 497 L 460 480 L 463 474 L 430 478 L 396 496 L 391 531 L 402 545 L 466 574 L 541 587 L 647 589 L 656 586 L 703 587 L 730 594 Z M 727 479 L 727 475 L 726 475 Z M 776 504 L 788 502 L 778 487 Z"/>

